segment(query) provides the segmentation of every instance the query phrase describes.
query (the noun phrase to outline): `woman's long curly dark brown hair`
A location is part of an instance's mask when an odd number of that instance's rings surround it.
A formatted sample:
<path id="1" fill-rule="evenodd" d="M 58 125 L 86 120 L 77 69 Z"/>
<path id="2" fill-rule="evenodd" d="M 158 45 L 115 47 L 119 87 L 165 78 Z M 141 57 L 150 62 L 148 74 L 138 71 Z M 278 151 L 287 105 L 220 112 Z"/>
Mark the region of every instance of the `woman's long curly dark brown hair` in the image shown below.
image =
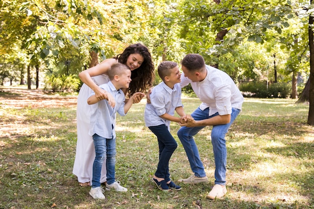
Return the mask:
<path id="1" fill-rule="evenodd" d="M 147 88 L 152 86 L 154 79 L 154 65 L 151 60 L 150 53 L 142 44 L 132 44 L 124 49 L 122 54 L 115 57 L 119 63 L 126 64 L 127 58 L 130 54 L 140 54 L 144 61 L 139 68 L 131 71 L 131 83 L 128 89 L 128 96 L 136 92 L 145 92 Z"/>

